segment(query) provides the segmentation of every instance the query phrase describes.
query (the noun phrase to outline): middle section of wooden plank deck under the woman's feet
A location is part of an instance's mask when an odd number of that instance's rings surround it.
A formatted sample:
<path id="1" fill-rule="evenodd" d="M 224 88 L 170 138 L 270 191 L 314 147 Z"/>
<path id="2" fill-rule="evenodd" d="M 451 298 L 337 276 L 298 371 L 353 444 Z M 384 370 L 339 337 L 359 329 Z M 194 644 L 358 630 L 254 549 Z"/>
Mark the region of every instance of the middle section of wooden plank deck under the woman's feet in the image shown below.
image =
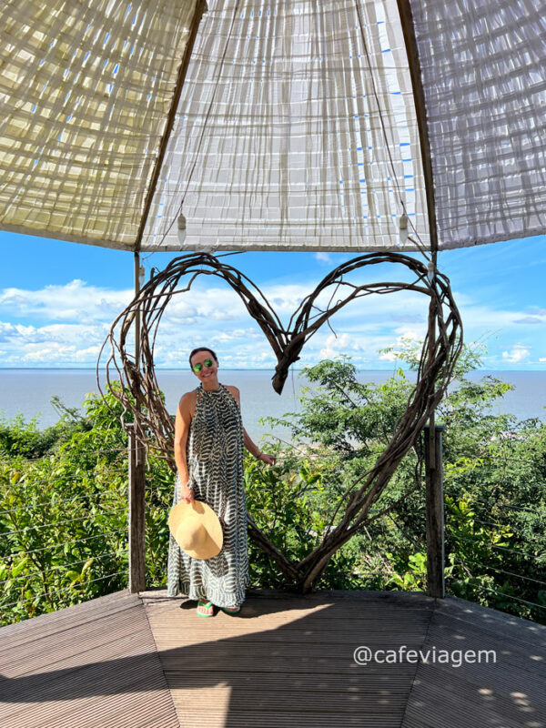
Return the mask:
<path id="1" fill-rule="evenodd" d="M 144 595 L 182 728 L 399 726 L 415 664 L 359 666 L 359 645 L 419 649 L 434 606 L 422 594 L 250 592 L 240 616 Z"/>

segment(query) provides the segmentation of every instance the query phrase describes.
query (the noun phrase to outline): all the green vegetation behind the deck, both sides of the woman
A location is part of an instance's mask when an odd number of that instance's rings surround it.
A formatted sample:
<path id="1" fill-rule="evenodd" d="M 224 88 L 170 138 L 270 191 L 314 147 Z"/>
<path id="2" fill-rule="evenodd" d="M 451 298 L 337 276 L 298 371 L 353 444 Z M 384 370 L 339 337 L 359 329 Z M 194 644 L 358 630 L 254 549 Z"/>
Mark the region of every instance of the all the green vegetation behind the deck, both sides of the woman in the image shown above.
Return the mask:
<path id="1" fill-rule="evenodd" d="M 399 358 L 414 367 L 417 352 Z M 437 422 L 443 441 L 446 583 L 449 593 L 546 623 L 546 425 L 494 415 L 510 385 L 470 381 L 480 351 L 465 349 Z M 343 510 L 351 484 L 377 458 L 406 406 L 411 383 L 399 369 L 383 385 L 362 384 L 349 359 L 306 371 L 301 411 L 275 423 L 278 464 L 248 457 L 248 509 L 298 561 Z M 0 420 L 0 624 L 53 612 L 127 585 L 127 458 L 121 409 L 91 395 L 85 414 L 66 409 L 52 428 Z M 268 420 L 272 422 L 273 420 Z M 420 453 L 400 464 L 369 522 L 331 559 L 318 588 L 426 587 L 424 476 Z M 152 456 L 147 470 L 147 584 L 165 586 L 167 514 L 173 476 Z M 345 501 L 343 501 L 345 502 Z M 288 586 L 250 542 L 251 585 Z M 533 606 L 538 604 L 540 606 Z"/>

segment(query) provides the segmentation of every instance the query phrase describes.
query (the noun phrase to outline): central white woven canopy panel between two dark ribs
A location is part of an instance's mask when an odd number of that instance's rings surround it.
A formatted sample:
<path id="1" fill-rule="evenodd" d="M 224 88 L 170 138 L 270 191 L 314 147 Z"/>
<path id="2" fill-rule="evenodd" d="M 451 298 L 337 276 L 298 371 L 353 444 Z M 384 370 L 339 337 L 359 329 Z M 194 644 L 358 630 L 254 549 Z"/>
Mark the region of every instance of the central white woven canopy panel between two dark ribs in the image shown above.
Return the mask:
<path id="1" fill-rule="evenodd" d="M 161 177 L 149 249 L 428 247 L 396 2 L 211 0 Z"/>

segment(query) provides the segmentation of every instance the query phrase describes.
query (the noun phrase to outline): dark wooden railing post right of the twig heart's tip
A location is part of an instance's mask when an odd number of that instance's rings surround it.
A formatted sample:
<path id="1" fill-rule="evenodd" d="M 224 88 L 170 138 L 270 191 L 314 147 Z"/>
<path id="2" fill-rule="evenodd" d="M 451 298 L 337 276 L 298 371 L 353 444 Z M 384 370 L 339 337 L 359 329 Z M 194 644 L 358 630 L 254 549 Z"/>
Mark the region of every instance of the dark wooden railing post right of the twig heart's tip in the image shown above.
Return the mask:
<path id="1" fill-rule="evenodd" d="M 427 594 L 443 599 L 444 501 L 441 439 L 443 427 L 424 428 L 425 481 L 427 490 Z M 431 447 L 433 445 L 433 448 Z M 432 457 L 431 457 L 432 456 Z"/>

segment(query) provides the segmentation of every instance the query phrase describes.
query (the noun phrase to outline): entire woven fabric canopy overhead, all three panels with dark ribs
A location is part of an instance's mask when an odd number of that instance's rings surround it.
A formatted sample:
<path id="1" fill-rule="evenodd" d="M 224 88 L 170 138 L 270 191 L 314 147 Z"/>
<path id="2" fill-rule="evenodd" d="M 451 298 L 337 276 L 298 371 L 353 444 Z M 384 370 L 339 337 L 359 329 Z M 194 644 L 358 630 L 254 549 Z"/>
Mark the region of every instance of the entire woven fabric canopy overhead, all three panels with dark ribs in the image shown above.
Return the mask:
<path id="1" fill-rule="evenodd" d="M 188 250 L 355 252 L 544 232 L 541 0 L 203 9 L 4 2 L 0 228 L 179 250 L 183 211 Z"/>

